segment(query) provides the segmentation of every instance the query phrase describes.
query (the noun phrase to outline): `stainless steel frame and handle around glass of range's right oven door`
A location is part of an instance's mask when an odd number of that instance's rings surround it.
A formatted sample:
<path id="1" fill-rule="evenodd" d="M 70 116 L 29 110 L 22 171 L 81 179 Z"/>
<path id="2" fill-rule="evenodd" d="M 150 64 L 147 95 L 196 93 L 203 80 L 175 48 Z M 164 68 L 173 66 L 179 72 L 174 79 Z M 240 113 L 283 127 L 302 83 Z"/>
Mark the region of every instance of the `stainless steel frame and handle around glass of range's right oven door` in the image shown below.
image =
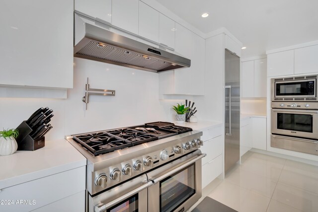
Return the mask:
<path id="1" fill-rule="evenodd" d="M 192 195 L 181 206 L 179 206 L 177 209 L 175 209 L 175 212 L 179 212 L 180 210 L 183 210 L 183 208 L 184 208 L 184 211 L 189 210 L 202 196 L 202 162 L 201 162 L 202 157 L 201 156 L 204 157 L 205 154 L 201 154 L 200 150 L 195 150 L 194 152 L 186 155 L 184 158 L 180 158 L 178 160 L 175 160 L 175 161 L 167 164 L 165 167 L 162 166 L 156 170 L 153 170 L 153 171 L 147 173 L 149 179 L 155 180 L 155 179 L 161 178 L 161 176 L 165 175 L 165 173 L 177 172 L 174 170 L 176 168 L 178 168 L 179 166 L 183 166 L 183 164 L 187 164 L 187 166 L 189 166 L 193 163 L 195 164 L 196 193 L 194 195 Z M 197 157 L 201 157 L 201 158 L 196 160 Z M 190 161 L 194 161 L 194 162 L 188 163 Z M 186 168 L 187 166 L 183 167 L 183 169 Z M 164 178 L 162 178 L 162 179 L 164 179 Z M 149 212 L 159 212 L 159 208 L 160 208 L 159 183 L 158 183 L 159 181 L 158 180 L 156 180 L 156 181 L 157 181 L 156 184 L 154 184 L 153 186 L 148 188 L 148 211 Z"/>

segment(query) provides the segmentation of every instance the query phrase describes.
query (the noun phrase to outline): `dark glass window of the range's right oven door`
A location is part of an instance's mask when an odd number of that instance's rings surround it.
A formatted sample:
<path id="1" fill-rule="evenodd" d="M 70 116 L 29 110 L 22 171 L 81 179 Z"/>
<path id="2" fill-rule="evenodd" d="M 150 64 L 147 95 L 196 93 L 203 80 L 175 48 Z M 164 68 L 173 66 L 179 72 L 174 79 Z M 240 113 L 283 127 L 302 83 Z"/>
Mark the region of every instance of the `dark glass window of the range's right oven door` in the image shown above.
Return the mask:
<path id="1" fill-rule="evenodd" d="M 195 194 L 195 163 L 159 184 L 160 212 L 171 212 Z"/>

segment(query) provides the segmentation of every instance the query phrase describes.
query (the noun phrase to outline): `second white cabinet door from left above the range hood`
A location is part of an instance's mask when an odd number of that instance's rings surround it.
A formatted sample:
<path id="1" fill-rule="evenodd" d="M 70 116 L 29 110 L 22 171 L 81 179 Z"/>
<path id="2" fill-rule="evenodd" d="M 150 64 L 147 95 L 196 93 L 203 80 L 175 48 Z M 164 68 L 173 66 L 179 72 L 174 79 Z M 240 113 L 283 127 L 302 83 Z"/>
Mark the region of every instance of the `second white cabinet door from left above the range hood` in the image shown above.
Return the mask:
<path id="1" fill-rule="evenodd" d="M 138 35 L 139 0 L 112 0 L 112 25 Z"/>

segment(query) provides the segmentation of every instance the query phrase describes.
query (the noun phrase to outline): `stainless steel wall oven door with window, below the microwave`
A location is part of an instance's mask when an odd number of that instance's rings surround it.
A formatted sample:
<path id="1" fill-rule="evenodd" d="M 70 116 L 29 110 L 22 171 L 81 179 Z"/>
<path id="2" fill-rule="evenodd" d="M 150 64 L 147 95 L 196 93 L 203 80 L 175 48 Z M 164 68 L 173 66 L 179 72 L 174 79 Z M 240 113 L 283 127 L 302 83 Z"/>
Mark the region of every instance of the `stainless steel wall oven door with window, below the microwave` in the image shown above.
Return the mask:
<path id="1" fill-rule="evenodd" d="M 318 111 L 272 109 L 273 134 L 302 138 L 318 138 Z"/>

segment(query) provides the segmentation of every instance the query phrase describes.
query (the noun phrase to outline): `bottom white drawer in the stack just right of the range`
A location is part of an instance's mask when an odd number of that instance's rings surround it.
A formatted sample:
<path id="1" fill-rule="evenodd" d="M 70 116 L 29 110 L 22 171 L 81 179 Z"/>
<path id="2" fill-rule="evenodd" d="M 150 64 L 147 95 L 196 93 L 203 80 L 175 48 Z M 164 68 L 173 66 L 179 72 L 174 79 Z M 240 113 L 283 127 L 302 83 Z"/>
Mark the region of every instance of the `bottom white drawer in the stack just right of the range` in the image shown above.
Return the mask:
<path id="1" fill-rule="evenodd" d="M 222 174 L 222 154 L 202 166 L 202 189 Z"/>

